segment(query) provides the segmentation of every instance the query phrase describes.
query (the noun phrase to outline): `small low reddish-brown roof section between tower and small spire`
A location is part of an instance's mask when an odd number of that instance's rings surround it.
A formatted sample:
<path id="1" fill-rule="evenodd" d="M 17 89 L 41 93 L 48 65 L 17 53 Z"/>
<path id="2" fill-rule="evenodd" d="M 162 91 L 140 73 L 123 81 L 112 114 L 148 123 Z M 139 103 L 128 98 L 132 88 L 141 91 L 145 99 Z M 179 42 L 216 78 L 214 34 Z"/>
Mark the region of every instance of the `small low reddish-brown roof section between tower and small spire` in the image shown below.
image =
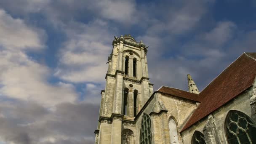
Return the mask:
<path id="1" fill-rule="evenodd" d="M 189 93 L 187 91 L 183 91 L 177 88 L 170 88 L 170 87 L 166 87 L 166 86 L 162 86 L 161 88 L 159 88 L 157 90 L 157 92 L 161 92 L 161 93 L 166 93 L 169 95 L 173 95 L 173 96 L 178 96 L 184 99 L 189 99 L 192 101 L 199 101 L 199 95 L 196 93 Z"/>

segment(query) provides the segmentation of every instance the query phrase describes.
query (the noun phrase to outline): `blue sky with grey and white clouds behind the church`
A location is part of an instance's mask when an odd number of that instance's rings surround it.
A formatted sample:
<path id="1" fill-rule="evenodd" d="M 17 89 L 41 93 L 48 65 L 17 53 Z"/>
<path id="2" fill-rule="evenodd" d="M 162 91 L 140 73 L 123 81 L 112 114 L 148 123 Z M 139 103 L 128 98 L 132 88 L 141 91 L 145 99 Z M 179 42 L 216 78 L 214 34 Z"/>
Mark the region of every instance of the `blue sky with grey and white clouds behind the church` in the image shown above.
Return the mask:
<path id="1" fill-rule="evenodd" d="M 149 77 L 199 90 L 256 52 L 255 0 L 0 0 L 0 144 L 93 144 L 113 36 L 149 46 Z"/>

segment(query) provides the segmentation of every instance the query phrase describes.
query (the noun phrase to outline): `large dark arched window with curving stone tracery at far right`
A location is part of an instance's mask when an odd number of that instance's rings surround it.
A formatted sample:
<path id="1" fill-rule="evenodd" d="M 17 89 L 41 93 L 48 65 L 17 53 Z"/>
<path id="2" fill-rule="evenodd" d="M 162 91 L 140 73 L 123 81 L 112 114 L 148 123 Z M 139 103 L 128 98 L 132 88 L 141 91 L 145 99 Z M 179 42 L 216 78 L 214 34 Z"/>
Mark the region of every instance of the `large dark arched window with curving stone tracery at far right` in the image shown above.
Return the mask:
<path id="1" fill-rule="evenodd" d="M 242 112 L 232 110 L 225 120 L 225 133 L 229 144 L 256 144 L 256 127 Z"/>

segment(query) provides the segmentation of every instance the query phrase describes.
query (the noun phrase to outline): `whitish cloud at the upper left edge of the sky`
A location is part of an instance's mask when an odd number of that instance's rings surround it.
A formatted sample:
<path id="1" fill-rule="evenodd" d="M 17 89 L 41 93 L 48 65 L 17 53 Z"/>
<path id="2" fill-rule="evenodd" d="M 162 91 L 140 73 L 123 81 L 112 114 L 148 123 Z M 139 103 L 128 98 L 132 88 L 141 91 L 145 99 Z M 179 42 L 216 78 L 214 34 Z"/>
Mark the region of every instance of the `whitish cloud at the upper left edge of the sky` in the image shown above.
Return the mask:
<path id="1" fill-rule="evenodd" d="M 40 35 L 38 35 L 40 33 Z M 0 9 L 0 47 L 8 49 L 44 48 L 45 35 L 40 29 L 28 27 L 21 19 L 13 19 L 9 14 Z"/>

